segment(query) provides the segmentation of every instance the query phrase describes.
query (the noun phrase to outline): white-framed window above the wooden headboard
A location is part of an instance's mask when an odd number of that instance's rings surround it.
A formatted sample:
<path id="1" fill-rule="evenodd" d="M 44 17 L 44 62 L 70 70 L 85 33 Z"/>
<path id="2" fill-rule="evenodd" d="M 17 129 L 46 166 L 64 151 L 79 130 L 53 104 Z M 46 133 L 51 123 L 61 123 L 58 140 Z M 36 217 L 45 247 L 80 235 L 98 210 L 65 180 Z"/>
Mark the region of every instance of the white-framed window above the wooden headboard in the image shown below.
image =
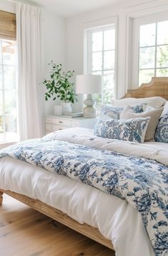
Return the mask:
<path id="1" fill-rule="evenodd" d="M 136 37 L 137 29 L 139 42 L 133 39 L 132 55 L 132 82 L 137 82 L 139 86 L 143 82 L 150 82 L 152 77 L 168 76 L 168 19 L 164 19 L 164 15 L 155 15 L 143 18 L 144 24 L 141 22 L 142 18 L 139 18 L 133 24 L 133 37 Z M 138 52 L 134 47 L 137 47 Z"/>

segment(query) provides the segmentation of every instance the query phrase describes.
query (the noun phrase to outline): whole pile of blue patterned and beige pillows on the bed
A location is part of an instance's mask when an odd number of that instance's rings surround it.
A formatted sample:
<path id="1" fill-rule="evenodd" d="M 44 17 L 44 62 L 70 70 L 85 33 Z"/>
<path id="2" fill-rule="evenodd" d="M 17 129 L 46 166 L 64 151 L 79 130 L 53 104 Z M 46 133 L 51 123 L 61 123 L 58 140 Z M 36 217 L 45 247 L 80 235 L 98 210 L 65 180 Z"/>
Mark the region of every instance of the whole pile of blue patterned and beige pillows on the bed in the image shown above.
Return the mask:
<path id="1" fill-rule="evenodd" d="M 168 143 L 168 102 L 161 97 L 112 100 L 112 105 L 102 107 L 94 135 L 136 143 Z"/>

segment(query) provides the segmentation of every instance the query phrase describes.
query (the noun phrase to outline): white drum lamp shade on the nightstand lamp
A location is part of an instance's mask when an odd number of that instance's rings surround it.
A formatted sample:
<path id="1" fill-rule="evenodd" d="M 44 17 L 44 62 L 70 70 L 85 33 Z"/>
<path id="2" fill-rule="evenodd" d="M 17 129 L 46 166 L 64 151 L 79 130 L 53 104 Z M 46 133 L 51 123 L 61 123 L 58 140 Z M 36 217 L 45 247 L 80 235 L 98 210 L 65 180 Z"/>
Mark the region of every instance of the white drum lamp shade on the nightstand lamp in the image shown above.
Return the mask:
<path id="1" fill-rule="evenodd" d="M 102 93 L 102 75 L 76 75 L 76 93 Z"/>

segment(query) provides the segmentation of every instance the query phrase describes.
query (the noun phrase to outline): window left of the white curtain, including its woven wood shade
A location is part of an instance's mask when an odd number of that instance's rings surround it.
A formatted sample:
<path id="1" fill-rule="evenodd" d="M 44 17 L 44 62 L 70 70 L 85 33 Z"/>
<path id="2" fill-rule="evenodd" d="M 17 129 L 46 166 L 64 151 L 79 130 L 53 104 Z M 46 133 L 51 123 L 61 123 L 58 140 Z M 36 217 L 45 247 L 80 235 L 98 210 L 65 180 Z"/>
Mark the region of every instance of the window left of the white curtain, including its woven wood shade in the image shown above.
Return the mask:
<path id="1" fill-rule="evenodd" d="M 0 11 L 0 143 L 17 141 L 15 15 Z"/>

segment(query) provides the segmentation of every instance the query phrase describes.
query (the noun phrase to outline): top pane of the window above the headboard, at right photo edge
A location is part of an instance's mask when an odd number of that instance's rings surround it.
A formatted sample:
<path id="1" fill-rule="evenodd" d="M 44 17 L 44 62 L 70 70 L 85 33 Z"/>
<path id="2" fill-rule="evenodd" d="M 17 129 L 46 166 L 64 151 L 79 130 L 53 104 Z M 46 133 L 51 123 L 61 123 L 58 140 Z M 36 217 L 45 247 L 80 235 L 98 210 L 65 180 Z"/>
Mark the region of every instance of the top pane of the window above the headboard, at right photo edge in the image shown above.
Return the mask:
<path id="1" fill-rule="evenodd" d="M 157 24 L 157 44 L 168 44 L 168 21 Z"/>

